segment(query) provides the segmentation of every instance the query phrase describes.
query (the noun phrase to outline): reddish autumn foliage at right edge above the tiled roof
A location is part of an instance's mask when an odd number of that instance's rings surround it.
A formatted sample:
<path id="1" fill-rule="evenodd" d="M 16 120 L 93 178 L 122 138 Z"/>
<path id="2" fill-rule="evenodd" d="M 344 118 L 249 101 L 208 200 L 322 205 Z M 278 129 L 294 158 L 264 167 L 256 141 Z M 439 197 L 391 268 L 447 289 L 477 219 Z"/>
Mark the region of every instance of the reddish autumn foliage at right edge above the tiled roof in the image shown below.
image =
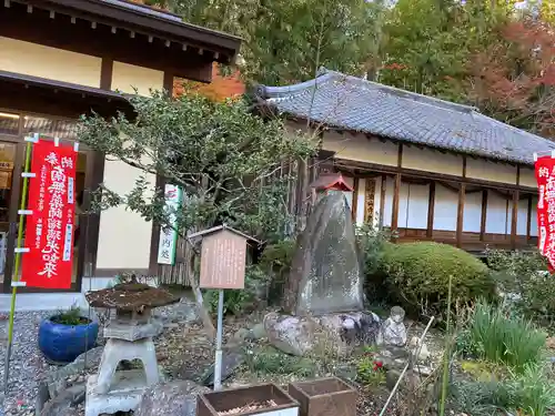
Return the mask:
<path id="1" fill-rule="evenodd" d="M 549 136 L 555 121 L 555 31 L 522 20 L 500 29 L 500 42 L 471 61 L 470 95 L 497 119 Z"/>

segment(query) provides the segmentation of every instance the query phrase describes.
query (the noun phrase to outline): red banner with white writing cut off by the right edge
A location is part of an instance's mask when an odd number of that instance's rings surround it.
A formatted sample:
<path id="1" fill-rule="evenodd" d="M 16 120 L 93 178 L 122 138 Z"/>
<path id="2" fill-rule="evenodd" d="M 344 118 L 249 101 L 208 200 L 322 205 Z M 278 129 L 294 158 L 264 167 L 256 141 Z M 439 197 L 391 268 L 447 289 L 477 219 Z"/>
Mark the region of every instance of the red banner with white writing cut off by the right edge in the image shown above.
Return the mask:
<path id="1" fill-rule="evenodd" d="M 555 268 L 555 159 L 539 158 L 535 163 L 537 180 L 537 247 Z"/>

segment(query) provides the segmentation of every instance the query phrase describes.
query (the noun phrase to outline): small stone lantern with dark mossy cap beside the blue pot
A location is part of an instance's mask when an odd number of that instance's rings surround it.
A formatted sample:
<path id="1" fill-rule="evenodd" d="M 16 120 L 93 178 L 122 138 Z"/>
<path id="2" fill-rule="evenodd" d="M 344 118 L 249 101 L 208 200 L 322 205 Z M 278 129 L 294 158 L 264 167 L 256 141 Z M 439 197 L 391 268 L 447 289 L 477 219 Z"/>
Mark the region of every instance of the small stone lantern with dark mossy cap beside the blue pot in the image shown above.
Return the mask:
<path id="1" fill-rule="evenodd" d="M 89 292 L 93 307 L 114 308 L 115 318 L 104 328 L 108 338 L 99 373 L 87 381 L 85 416 L 129 412 L 139 406 L 144 389 L 160 381 L 152 337 L 162 324 L 151 318 L 151 311 L 179 302 L 161 288 L 137 282 Z M 122 361 L 139 359 L 144 371 L 117 371 Z"/>

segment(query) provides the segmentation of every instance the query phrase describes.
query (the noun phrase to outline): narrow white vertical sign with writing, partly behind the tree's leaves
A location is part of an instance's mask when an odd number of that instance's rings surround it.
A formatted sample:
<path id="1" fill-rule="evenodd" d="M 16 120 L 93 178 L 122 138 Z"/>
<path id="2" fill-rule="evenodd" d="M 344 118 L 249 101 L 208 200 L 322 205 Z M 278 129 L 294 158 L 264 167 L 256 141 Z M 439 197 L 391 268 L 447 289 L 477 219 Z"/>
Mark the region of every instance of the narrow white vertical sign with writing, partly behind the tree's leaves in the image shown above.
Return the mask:
<path id="1" fill-rule="evenodd" d="M 169 226 L 161 227 L 160 241 L 158 244 L 158 263 L 173 265 L 175 262 L 175 248 L 178 245 L 178 232 L 175 226 L 175 212 L 181 206 L 182 192 L 179 186 L 165 185 L 165 209 L 169 213 Z"/>

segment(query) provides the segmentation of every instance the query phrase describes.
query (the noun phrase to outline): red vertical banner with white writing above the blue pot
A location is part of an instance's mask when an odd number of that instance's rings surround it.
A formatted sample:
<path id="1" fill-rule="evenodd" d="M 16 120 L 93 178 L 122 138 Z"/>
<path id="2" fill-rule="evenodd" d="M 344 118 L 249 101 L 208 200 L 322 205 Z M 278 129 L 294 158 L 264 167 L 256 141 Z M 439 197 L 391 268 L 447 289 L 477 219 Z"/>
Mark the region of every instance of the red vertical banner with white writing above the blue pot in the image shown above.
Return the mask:
<path id="1" fill-rule="evenodd" d="M 33 144 L 21 280 L 27 287 L 70 288 L 73 272 L 77 152 Z"/>

